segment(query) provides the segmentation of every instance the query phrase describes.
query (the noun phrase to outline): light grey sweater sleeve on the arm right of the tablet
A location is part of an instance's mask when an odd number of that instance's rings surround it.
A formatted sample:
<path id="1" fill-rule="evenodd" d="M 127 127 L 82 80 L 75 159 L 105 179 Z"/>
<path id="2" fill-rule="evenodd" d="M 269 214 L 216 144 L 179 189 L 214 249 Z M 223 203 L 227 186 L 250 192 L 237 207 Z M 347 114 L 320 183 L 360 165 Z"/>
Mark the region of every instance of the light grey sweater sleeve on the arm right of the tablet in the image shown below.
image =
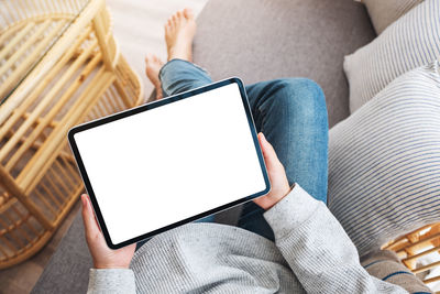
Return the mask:
<path id="1" fill-rule="evenodd" d="M 307 293 L 408 293 L 370 275 L 342 226 L 299 185 L 264 217 Z"/>

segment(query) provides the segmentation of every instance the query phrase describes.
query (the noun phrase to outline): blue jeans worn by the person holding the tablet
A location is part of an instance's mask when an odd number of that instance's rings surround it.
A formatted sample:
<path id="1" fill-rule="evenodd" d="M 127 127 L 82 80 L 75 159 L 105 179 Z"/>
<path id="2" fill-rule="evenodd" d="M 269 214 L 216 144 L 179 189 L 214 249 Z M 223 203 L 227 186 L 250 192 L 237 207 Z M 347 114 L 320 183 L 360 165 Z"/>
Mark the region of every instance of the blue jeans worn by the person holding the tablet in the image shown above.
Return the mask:
<path id="1" fill-rule="evenodd" d="M 166 63 L 160 79 L 164 97 L 212 83 L 206 70 L 180 59 Z M 282 78 L 249 85 L 246 92 L 256 130 L 274 146 L 289 184 L 298 183 L 327 204 L 329 127 L 321 88 L 310 79 Z M 246 203 L 238 226 L 274 240 L 263 213 L 254 203 Z"/>

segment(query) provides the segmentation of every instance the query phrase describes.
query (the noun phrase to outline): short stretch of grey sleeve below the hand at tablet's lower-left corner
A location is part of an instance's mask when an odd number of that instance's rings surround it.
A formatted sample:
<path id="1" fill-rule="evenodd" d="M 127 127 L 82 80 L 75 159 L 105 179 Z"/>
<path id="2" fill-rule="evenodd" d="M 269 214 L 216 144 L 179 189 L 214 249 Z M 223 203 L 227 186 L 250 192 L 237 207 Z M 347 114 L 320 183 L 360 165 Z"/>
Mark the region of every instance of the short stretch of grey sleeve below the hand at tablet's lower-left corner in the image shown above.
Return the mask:
<path id="1" fill-rule="evenodd" d="M 133 271 L 124 269 L 90 269 L 87 294 L 105 293 L 136 293 Z"/>

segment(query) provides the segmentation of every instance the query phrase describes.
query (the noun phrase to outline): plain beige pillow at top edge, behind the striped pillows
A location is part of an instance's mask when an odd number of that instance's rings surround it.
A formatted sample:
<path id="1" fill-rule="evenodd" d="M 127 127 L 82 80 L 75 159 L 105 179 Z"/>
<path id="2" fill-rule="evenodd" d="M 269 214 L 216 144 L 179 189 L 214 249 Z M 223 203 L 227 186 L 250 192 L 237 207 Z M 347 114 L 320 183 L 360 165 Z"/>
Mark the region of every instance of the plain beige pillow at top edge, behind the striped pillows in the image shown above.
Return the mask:
<path id="1" fill-rule="evenodd" d="M 369 11 L 370 19 L 381 34 L 386 26 L 398 20 L 424 0 L 362 0 Z"/>

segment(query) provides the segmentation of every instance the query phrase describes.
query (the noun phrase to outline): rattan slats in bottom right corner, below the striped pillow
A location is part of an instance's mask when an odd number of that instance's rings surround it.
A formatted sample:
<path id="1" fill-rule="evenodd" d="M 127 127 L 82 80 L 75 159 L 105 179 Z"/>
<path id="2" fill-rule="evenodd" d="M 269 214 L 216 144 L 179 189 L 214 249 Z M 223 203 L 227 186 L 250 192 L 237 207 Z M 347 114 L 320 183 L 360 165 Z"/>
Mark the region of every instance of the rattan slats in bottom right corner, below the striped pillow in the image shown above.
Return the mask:
<path id="1" fill-rule="evenodd" d="M 425 265 L 419 265 L 418 261 L 430 253 L 440 252 L 440 222 L 419 228 L 416 231 L 386 243 L 382 249 L 395 251 L 402 262 L 414 274 L 426 273 L 432 269 L 439 268 L 440 260 L 431 261 Z M 440 281 L 440 275 L 425 279 L 424 283 L 429 285 L 438 281 Z"/>

